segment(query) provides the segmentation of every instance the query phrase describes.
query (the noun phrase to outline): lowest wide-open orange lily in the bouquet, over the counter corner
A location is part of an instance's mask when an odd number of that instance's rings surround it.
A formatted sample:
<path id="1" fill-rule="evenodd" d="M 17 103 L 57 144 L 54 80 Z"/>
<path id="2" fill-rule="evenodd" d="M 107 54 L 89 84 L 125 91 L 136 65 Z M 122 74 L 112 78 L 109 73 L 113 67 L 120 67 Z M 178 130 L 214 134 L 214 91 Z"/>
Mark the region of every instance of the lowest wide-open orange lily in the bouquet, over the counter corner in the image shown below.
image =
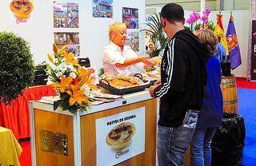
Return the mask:
<path id="1" fill-rule="evenodd" d="M 88 97 L 86 97 L 83 93 L 85 89 L 78 89 L 78 87 L 71 85 L 72 91 L 68 90 L 66 93 L 70 95 L 70 106 L 74 105 L 75 102 L 78 102 L 79 105 L 82 105 L 82 101 L 88 101 Z"/>

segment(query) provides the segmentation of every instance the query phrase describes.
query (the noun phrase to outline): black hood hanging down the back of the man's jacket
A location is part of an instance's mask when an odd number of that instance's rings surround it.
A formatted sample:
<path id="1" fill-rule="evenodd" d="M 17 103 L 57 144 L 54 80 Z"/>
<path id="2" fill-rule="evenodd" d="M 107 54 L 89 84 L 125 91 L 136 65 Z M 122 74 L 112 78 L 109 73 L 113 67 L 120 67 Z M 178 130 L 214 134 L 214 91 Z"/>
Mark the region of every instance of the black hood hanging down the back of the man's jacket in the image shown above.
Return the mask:
<path id="1" fill-rule="evenodd" d="M 174 34 L 173 38 L 180 38 L 187 41 L 191 48 L 197 53 L 200 63 L 202 65 L 206 65 L 207 61 L 211 57 L 211 53 L 208 49 L 206 49 L 206 45 L 203 45 L 199 38 L 190 30 L 180 30 Z"/>

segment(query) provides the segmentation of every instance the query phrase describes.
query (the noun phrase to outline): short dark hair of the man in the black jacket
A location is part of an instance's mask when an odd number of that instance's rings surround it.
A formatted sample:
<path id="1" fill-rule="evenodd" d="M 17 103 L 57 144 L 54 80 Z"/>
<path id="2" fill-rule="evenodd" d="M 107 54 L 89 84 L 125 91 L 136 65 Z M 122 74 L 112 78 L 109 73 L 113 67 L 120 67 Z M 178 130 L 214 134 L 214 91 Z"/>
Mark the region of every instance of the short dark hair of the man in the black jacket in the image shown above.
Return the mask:
<path id="1" fill-rule="evenodd" d="M 185 20 L 184 10 L 182 6 L 177 3 L 168 3 L 163 6 L 160 15 L 162 18 L 166 18 L 170 23 L 183 22 L 183 20 Z"/>

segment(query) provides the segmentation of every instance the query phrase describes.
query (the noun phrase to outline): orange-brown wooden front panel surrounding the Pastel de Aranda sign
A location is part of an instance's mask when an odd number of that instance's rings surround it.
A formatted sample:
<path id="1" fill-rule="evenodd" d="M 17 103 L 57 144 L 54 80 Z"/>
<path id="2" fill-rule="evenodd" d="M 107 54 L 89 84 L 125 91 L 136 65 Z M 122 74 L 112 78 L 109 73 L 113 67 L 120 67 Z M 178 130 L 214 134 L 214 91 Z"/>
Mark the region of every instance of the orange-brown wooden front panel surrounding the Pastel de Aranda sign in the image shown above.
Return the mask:
<path id="1" fill-rule="evenodd" d="M 126 112 L 141 107 L 146 107 L 145 117 L 145 152 L 130 160 L 123 161 L 117 166 L 146 165 L 153 166 L 156 163 L 156 125 L 157 125 L 157 100 L 151 99 L 131 105 L 125 105 L 115 109 L 92 113 L 81 117 L 81 152 L 83 166 L 96 166 L 96 126 L 95 120 L 102 117 L 110 117 L 117 113 Z M 88 127 L 90 125 L 90 127 Z"/>

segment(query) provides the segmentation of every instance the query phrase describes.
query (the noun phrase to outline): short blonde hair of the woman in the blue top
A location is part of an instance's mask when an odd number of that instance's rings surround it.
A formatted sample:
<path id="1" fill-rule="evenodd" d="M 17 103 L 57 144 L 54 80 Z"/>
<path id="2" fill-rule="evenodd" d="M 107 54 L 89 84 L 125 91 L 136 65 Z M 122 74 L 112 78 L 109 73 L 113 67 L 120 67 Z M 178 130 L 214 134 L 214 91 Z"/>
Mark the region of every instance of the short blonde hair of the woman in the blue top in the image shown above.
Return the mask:
<path id="1" fill-rule="evenodd" d="M 194 34 L 202 41 L 202 44 L 206 45 L 206 49 L 214 55 L 216 52 L 216 45 L 218 45 L 218 38 L 214 34 L 214 31 L 210 29 L 203 29 L 195 31 Z"/>

